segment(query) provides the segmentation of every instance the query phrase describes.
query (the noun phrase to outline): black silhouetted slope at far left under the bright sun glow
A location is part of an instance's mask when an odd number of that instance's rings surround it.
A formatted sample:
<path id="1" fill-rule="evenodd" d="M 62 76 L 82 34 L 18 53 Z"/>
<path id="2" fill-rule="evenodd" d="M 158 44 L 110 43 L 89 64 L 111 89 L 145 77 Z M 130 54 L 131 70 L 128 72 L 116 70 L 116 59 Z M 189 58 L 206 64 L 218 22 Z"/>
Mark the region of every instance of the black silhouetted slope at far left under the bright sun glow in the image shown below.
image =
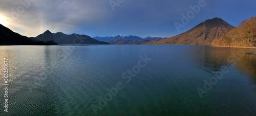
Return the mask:
<path id="1" fill-rule="evenodd" d="M 0 45 L 52 45 L 54 41 L 37 41 L 22 36 L 0 24 Z"/>

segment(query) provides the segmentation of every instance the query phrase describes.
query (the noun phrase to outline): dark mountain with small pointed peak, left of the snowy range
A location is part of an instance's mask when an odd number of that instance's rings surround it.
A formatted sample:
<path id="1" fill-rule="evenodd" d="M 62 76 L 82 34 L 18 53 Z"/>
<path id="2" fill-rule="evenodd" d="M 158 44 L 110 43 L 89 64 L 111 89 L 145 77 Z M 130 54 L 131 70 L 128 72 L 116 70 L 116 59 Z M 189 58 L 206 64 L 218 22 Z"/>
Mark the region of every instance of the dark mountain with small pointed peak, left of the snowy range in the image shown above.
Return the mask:
<path id="1" fill-rule="evenodd" d="M 31 39 L 39 40 L 39 41 L 54 40 L 58 44 L 110 44 L 108 42 L 98 41 L 87 35 L 79 35 L 79 34 L 67 35 L 61 32 L 52 33 L 49 30 L 47 30 L 46 32 L 36 37 L 31 37 Z"/>

